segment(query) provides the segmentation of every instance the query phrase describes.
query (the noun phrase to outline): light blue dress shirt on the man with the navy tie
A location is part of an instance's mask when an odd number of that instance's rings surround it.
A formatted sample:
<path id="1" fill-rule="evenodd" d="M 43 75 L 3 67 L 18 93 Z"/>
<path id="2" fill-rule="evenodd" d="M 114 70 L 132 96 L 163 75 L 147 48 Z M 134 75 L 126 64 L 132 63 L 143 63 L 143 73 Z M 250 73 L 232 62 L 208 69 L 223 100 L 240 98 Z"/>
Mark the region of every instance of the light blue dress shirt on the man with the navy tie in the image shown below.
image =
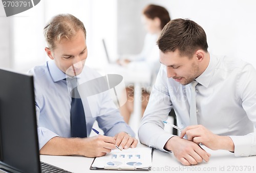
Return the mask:
<path id="1" fill-rule="evenodd" d="M 31 69 L 29 73 L 34 76 L 39 148 L 56 136 L 70 138 L 71 96 L 69 91 L 72 89 L 68 88 L 67 81 L 63 80 L 66 74 L 58 69 L 53 60 L 48 61 L 44 66 Z M 98 77 L 100 75 L 96 71 L 84 66 L 82 73 L 78 76 L 78 82 L 84 83 Z M 87 136 L 90 135 L 95 121 L 106 136 L 115 136 L 119 132 L 135 136 L 130 126 L 124 122 L 108 92 L 101 93 L 90 101 L 87 100 L 82 98 Z"/>

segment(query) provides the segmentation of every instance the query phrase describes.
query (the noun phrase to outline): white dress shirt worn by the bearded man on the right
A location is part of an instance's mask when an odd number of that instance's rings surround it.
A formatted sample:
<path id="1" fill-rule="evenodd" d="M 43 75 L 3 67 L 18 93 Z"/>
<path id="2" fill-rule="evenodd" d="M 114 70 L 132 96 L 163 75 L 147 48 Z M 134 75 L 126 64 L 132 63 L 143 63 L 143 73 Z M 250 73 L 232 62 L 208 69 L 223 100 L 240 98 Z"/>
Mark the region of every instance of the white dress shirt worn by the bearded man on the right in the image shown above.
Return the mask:
<path id="1" fill-rule="evenodd" d="M 235 156 L 256 155 L 256 70 L 242 60 L 210 54 L 207 69 L 196 80 L 198 124 L 230 136 Z M 141 143 L 165 151 L 173 135 L 164 131 L 163 121 L 172 108 L 178 126 L 189 125 L 189 85 L 167 78 L 161 66 L 139 128 Z"/>

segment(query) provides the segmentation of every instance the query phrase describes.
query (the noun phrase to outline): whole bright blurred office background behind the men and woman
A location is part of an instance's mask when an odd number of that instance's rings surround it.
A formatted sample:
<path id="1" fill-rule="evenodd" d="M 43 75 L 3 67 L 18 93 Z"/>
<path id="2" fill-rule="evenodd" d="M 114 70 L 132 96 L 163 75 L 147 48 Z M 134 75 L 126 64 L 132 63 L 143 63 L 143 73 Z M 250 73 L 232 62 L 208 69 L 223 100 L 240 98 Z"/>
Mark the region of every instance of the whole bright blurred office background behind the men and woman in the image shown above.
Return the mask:
<path id="1" fill-rule="evenodd" d="M 0 5 L 0 67 L 27 72 L 48 60 L 42 29 L 53 15 L 71 13 L 87 29 L 86 64 L 100 71 L 108 66 L 102 38 L 113 61 L 141 51 L 146 35 L 141 11 L 148 4 L 165 7 L 172 19 L 195 20 L 207 34 L 210 52 L 242 58 L 256 68 L 253 0 L 41 0 L 10 17 Z"/>

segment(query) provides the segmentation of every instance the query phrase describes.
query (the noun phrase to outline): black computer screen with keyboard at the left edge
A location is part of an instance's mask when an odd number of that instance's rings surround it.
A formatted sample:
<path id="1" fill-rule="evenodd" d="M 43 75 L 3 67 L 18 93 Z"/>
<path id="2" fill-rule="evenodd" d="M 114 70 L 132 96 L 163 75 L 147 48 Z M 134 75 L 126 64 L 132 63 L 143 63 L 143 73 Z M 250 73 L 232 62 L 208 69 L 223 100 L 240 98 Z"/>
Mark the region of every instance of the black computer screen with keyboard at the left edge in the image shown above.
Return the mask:
<path id="1" fill-rule="evenodd" d="M 0 81 L 0 172 L 68 172 L 40 162 L 33 76 L 0 69 Z"/>

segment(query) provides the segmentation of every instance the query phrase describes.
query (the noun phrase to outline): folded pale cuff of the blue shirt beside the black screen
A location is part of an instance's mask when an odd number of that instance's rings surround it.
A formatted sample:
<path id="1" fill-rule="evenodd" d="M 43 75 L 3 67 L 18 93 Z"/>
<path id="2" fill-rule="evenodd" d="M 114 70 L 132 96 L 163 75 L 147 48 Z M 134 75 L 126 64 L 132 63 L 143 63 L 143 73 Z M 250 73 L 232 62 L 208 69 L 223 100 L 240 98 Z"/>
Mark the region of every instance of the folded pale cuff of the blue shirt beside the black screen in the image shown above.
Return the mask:
<path id="1" fill-rule="evenodd" d="M 58 136 L 57 134 L 53 133 L 49 129 L 45 127 L 38 127 L 37 128 L 38 134 L 38 143 L 39 143 L 39 150 L 53 137 Z"/>

